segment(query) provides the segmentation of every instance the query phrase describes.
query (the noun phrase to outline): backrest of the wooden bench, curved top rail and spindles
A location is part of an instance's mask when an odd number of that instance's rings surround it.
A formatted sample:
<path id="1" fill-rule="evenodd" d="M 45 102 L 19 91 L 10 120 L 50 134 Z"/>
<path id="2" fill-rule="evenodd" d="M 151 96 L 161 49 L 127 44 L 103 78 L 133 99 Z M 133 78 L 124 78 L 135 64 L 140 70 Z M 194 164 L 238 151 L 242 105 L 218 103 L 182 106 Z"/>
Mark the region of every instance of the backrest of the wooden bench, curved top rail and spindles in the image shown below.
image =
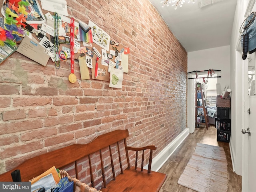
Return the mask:
<path id="1" fill-rule="evenodd" d="M 128 164 L 128 167 L 130 167 L 127 146 L 126 146 L 126 138 L 128 138 L 128 136 L 129 136 L 128 130 L 115 130 L 115 131 L 100 135 L 100 136 L 96 137 L 94 140 L 92 140 L 92 142 L 87 143 L 87 144 L 73 144 L 73 145 L 58 149 L 58 150 L 54 150 L 54 151 L 51 151 L 51 152 L 48 152 L 45 154 L 41 154 L 39 156 L 28 159 L 28 160 L 24 161 L 22 164 L 20 164 L 19 166 L 17 166 L 16 168 L 14 168 L 4 174 L 1 174 L 0 181 L 12 181 L 11 172 L 13 172 L 14 170 L 17 170 L 17 169 L 20 170 L 20 175 L 21 175 L 22 181 L 28 181 L 31 178 L 34 178 L 35 176 L 42 174 L 43 172 L 45 172 L 52 166 L 55 166 L 56 168 L 62 168 L 70 163 L 75 163 L 76 176 L 78 176 L 76 161 L 85 156 L 88 156 L 89 163 L 90 163 L 90 154 L 100 151 L 102 177 L 103 177 L 103 182 L 104 182 L 104 186 L 105 186 L 106 181 L 105 181 L 105 176 L 104 176 L 104 168 L 103 168 L 101 149 L 109 147 L 111 164 L 112 164 L 112 169 L 113 169 L 114 164 L 113 164 L 113 160 L 112 160 L 110 145 L 117 143 L 118 152 L 119 152 L 119 161 L 120 161 L 121 172 L 122 172 L 122 162 L 120 159 L 120 151 L 119 151 L 118 142 L 121 140 L 124 141 L 127 164 Z M 94 187 L 94 179 L 92 176 L 91 163 L 90 163 L 90 172 L 91 172 L 92 187 Z M 115 177 L 114 172 L 113 172 L 113 177 Z"/>

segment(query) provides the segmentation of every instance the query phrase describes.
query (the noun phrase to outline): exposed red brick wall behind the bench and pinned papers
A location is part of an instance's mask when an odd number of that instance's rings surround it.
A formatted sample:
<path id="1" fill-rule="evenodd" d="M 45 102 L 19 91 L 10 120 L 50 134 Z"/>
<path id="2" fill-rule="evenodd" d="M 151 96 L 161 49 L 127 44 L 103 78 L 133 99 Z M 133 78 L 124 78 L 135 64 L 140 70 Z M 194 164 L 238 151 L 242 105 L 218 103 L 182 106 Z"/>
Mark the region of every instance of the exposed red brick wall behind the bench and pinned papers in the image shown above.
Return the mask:
<path id="1" fill-rule="evenodd" d="M 130 48 L 128 74 L 122 89 L 109 88 L 109 82 L 81 81 L 75 61 L 78 80 L 71 84 L 70 61 L 56 70 L 51 60 L 43 67 L 12 54 L 0 64 L 0 173 L 32 156 L 115 129 L 129 130 L 128 145 L 156 145 L 156 156 L 186 128 L 187 53 L 152 4 L 67 3 L 69 16 L 92 20 Z M 85 177 L 85 168 L 80 170 Z"/>

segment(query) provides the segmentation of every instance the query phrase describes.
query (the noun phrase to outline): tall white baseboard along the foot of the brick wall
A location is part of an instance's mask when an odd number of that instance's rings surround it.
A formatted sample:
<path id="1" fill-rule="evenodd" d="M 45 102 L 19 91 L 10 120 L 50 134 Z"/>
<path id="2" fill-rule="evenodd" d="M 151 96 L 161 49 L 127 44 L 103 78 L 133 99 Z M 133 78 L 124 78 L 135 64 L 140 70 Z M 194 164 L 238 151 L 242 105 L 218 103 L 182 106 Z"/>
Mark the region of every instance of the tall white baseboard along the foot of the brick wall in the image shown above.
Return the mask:
<path id="1" fill-rule="evenodd" d="M 186 128 L 172 142 L 170 142 L 168 146 L 166 146 L 160 153 L 158 153 L 158 155 L 152 159 L 151 170 L 158 171 L 188 135 L 189 135 L 189 130 L 188 128 Z M 148 168 L 148 164 L 144 166 L 144 169 L 147 169 L 147 168 Z"/>

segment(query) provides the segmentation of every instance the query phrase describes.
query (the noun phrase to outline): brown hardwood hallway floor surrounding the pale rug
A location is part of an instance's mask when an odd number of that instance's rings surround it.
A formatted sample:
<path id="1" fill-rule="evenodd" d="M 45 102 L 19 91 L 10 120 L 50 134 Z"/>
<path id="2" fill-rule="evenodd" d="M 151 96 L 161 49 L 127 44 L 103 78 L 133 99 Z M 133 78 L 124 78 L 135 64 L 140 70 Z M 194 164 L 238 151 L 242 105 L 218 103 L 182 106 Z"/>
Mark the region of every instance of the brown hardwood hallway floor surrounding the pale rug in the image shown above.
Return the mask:
<path id="1" fill-rule="evenodd" d="M 233 172 L 229 143 L 217 141 L 217 129 L 210 126 L 208 130 L 205 127 L 198 128 L 193 134 L 182 142 L 172 156 L 160 168 L 158 172 L 166 173 L 167 178 L 160 192 L 195 192 L 178 184 L 178 179 L 188 163 L 190 156 L 194 152 L 197 143 L 221 146 L 226 153 L 228 161 L 228 192 L 242 191 L 242 177 Z"/>

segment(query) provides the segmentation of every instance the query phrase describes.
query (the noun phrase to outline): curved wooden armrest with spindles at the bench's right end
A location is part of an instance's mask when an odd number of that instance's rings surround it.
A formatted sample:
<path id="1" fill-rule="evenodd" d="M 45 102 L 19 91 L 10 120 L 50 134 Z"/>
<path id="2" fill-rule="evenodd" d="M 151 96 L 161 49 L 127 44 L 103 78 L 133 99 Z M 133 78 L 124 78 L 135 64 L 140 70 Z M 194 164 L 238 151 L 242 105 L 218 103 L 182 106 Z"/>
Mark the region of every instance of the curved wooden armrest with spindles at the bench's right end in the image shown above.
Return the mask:
<path id="1" fill-rule="evenodd" d="M 156 150 L 156 146 L 154 146 L 154 145 L 145 146 L 145 147 L 130 147 L 130 146 L 127 146 L 127 150 L 136 151 L 135 170 L 137 169 L 137 163 L 138 163 L 138 151 L 142 151 L 141 171 L 143 171 L 144 150 L 150 150 L 150 156 L 149 156 L 149 162 L 148 162 L 148 173 L 151 172 L 153 150 Z"/>

